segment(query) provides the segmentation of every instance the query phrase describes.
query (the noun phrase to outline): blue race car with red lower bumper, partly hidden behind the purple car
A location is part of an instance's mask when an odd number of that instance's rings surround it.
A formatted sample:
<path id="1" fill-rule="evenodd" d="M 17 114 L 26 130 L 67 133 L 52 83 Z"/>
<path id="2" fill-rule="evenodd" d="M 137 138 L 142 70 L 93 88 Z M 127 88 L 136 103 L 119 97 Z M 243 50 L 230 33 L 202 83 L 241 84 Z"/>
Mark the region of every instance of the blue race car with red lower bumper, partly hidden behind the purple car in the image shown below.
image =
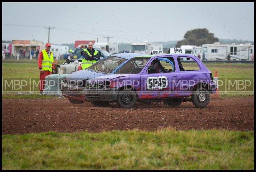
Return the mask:
<path id="1" fill-rule="evenodd" d="M 119 66 L 122 66 L 129 59 L 140 55 L 144 54 L 120 53 L 111 55 L 99 60 L 87 69 L 69 74 L 60 84 L 62 95 L 68 98 L 71 103 L 83 103 L 85 101 L 84 89 L 86 80 L 106 74 L 115 74 Z M 99 103 L 98 105 L 100 106 L 101 104 Z"/>

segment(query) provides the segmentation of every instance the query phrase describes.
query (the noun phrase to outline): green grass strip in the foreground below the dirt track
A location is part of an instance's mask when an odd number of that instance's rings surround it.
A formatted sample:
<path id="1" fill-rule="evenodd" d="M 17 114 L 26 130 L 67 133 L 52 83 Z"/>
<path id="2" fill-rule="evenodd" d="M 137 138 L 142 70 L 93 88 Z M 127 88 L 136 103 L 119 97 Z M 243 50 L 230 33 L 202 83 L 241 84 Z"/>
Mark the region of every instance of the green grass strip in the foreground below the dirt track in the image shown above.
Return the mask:
<path id="1" fill-rule="evenodd" d="M 254 169 L 254 131 L 2 135 L 2 169 Z"/>

